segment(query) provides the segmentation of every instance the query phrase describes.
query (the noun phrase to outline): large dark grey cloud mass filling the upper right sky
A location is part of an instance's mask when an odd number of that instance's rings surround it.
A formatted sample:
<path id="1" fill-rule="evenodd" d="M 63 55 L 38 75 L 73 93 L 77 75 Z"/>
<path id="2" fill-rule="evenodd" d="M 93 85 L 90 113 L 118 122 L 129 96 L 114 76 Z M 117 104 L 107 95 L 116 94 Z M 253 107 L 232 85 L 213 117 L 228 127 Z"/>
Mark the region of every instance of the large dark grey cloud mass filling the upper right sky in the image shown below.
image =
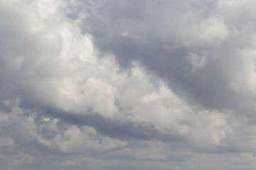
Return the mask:
<path id="1" fill-rule="evenodd" d="M 234 74 L 244 72 L 244 68 L 236 66 L 238 53 L 250 48 L 251 43 L 251 38 L 246 39 L 249 34 L 241 31 L 236 35 L 235 31 L 250 26 L 250 21 L 245 21 L 250 16 L 242 20 L 233 17 L 230 21 L 230 13 L 225 11 L 235 9 L 229 9 L 232 4 L 228 3 L 95 1 L 98 7 L 85 19 L 82 28 L 92 34 L 101 52 L 114 54 L 122 67 L 134 60 L 141 62 L 185 100 L 196 101 L 208 109 L 230 109 L 251 116 L 255 107 L 242 101 L 254 101 L 255 96 L 230 87 Z M 203 29 L 208 28 L 211 32 L 204 33 Z M 197 57 L 208 53 L 203 67 L 192 74 L 193 64 L 188 59 L 191 52 Z"/>

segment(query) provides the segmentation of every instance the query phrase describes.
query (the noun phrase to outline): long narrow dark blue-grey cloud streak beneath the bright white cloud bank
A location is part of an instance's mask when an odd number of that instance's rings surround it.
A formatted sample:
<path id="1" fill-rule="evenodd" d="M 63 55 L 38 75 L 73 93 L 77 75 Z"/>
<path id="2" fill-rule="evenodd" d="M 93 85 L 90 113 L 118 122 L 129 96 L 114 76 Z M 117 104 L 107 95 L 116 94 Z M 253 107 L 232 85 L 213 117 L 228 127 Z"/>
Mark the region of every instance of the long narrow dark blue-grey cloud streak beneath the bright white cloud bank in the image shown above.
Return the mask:
<path id="1" fill-rule="evenodd" d="M 154 125 L 146 123 L 118 122 L 101 115 L 74 115 L 73 113 L 58 113 L 57 111 L 44 111 L 55 118 L 61 118 L 71 125 L 89 125 L 95 128 L 102 135 L 114 137 L 120 140 L 162 140 L 164 142 L 178 142 L 181 139 L 178 135 L 161 134 L 154 128 Z"/>

